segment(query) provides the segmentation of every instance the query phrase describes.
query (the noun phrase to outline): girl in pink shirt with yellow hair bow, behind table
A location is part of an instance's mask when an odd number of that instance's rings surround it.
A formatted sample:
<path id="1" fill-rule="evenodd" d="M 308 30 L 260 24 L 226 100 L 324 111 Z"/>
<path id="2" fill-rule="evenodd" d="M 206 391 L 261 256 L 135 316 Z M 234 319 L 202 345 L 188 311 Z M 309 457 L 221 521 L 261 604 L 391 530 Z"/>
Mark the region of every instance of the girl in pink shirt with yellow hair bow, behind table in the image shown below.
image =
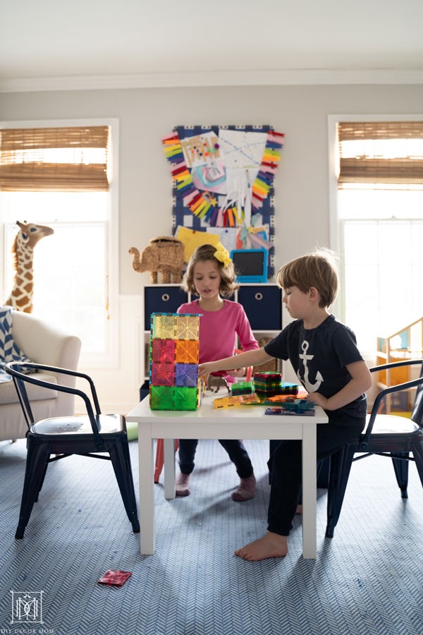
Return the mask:
<path id="1" fill-rule="evenodd" d="M 231 357 L 239 347 L 243 351 L 258 349 L 243 307 L 227 300 L 236 289 L 233 262 L 226 249 L 202 245 L 192 254 L 183 279 L 183 289 L 200 296 L 198 300 L 182 304 L 178 313 L 200 313 L 200 363 Z M 228 374 L 226 374 L 228 373 Z M 216 373 L 228 382 L 242 377 L 244 369 Z M 190 495 L 190 475 L 194 469 L 197 439 L 179 440 L 180 473 L 176 479 L 176 495 Z M 219 440 L 235 464 L 240 484 L 232 493 L 232 500 L 244 501 L 255 494 L 255 476 L 244 444 L 240 440 Z"/>

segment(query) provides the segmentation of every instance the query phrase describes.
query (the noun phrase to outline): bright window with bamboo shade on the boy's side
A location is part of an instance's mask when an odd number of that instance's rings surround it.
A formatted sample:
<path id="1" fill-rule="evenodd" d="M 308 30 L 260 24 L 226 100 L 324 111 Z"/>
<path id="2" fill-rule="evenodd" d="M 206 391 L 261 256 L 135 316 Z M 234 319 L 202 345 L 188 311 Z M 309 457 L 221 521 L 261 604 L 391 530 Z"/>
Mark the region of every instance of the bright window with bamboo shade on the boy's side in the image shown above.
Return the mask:
<path id="1" fill-rule="evenodd" d="M 422 315 L 423 121 L 332 123 L 341 319 L 370 357 Z"/>

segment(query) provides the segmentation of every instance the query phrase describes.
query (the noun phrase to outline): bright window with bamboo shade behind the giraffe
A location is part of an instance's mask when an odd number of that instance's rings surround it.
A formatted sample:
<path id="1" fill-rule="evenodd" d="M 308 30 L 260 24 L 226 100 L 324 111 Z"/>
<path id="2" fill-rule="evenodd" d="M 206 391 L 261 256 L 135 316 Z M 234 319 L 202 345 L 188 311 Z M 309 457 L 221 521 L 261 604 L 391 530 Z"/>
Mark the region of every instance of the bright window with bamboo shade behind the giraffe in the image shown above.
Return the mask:
<path id="1" fill-rule="evenodd" d="M 116 362 L 117 166 L 108 140 L 117 126 L 108 123 L 0 131 L 3 298 L 13 286 L 16 222 L 54 229 L 34 248 L 34 313 L 79 335 L 85 368 Z"/>

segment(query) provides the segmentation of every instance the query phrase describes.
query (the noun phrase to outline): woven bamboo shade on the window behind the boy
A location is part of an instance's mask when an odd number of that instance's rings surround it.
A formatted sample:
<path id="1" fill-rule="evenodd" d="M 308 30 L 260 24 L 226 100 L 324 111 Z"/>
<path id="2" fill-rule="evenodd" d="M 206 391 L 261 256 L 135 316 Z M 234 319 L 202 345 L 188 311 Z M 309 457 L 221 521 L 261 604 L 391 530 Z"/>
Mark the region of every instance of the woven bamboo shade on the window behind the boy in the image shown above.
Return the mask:
<path id="1" fill-rule="evenodd" d="M 423 184 L 423 121 L 341 122 L 338 142 L 340 186 Z"/>

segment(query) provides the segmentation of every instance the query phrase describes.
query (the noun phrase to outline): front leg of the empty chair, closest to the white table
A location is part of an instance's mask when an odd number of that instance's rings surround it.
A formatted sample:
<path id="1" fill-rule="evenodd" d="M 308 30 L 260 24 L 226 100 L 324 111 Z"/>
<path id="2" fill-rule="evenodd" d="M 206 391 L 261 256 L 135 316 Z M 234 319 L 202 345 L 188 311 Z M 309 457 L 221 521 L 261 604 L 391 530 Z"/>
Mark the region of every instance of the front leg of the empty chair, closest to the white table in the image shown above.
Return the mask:
<path id="1" fill-rule="evenodd" d="M 108 452 L 128 519 L 133 526 L 133 532 L 139 533 L 140 521 L 138 520 L 133 473 L 130 466 L 130 454 L 126 437 L 124 440 L 122 439 L 122 442 L 118 440 L 116 443 L 110 443 Z"/>

